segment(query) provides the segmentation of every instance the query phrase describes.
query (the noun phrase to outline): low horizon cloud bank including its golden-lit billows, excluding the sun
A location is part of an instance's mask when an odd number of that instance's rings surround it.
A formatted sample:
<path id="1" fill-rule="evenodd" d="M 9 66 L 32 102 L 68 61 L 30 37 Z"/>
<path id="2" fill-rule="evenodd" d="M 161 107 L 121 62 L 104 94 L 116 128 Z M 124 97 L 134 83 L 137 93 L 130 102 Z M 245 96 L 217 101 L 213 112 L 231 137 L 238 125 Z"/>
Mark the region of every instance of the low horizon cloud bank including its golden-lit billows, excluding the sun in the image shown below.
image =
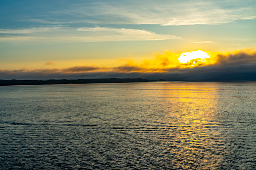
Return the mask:
<path id="1" fill-rule="evenodd" d="M 207 64 L 193 64 L 193 59 L 179 63 L 181 53 L 156 53 L 153 60 L 136 64 L 129 60 L 117 67 L 76 66 L 64 69 L 0 70 L 0 79 L 96 79 L 146 78 L 168 81 L 256 81 L 256 50 L 216 53 Z M 212 62 L 210 62 L 212 60 Z"/>

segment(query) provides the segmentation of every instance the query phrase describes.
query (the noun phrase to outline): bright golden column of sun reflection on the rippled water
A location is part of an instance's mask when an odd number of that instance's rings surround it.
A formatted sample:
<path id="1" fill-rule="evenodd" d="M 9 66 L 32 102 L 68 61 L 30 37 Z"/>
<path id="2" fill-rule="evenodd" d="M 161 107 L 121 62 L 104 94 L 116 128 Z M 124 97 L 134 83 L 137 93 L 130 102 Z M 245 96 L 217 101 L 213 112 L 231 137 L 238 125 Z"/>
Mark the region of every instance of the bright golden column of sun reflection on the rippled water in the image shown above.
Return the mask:
<path id="1" fill-rule="evenodd" d="M 217 86 L 207 83 L 203 86 L 202 83 L 183 83 L 183 86 L 175 86 L 174 83 L 166 83 L 164 89 L 167 88 L 168 93 L 161 94 L 167 100 L 162 106 L 169 108 L 165 119 L 171 127 L 171 141 L 166 149 L 176 154 L 181 162 L 179 167 L 186 168 L 189 163 L 195 167 L 213 168 L 223 157 L 221 154 L 212 154 L 223 149 L 222 146 L 216 147 L 215 142 L 220 139 L 215 113 Z"/>

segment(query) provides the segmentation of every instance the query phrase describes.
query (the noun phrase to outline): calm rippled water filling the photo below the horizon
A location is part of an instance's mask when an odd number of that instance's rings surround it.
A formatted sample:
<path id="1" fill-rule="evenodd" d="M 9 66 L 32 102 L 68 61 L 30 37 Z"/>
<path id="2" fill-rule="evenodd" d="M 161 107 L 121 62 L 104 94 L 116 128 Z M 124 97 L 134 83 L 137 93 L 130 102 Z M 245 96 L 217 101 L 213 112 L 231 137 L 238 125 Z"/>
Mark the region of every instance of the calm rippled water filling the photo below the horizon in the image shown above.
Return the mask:
<path id="1" fill-rule="evenodd" d="M 255 169 L 256 82 L 0 87 L 0 169 Z"/>

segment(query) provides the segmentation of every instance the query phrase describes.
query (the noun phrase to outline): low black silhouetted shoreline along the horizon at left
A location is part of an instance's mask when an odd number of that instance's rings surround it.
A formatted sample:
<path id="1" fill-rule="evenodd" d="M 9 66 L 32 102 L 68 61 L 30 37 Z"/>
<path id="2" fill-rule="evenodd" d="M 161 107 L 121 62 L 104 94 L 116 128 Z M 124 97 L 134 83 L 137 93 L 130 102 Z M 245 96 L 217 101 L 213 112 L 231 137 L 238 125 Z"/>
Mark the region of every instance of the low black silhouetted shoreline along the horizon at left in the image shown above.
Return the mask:
<path id="1" fill-rule="evenodd" d="M 156 80 L 147 79 L 78 79 L 78 80 L 0 80 L 0 86 L 17 86 L 17 85 L 45 85 L 45 84 L 89 84 L 89 83 L 134 83 L 134 82 L 152 82 Z"/>

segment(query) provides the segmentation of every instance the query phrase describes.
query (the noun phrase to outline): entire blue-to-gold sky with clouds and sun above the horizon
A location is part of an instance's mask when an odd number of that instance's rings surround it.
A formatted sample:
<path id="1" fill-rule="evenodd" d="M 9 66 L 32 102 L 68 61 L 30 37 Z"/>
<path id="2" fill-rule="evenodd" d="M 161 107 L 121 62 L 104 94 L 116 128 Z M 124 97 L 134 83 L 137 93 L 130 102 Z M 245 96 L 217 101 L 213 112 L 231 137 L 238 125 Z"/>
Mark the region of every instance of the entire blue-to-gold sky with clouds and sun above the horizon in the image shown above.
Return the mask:
<path id="1" fill-rule="evenodd" d="M 0 1 L 0 79 L 256 80 L 256 1 Z"/>

